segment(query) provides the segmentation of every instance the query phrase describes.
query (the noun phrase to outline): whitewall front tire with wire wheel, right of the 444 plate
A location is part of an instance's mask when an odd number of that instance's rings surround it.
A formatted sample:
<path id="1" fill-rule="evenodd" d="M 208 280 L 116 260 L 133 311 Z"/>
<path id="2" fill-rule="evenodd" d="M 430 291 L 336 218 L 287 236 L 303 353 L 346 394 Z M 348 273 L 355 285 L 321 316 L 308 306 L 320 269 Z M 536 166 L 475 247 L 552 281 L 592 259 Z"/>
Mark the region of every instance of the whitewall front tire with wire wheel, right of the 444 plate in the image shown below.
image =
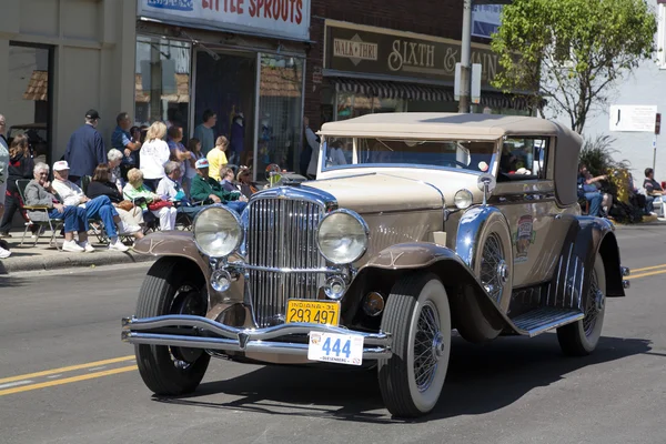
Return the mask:
<path id="1" fill-rule="evenodd" d="M 437 276 L 400 279 L 386 301 L 382 331 L 393 336 L 393 356 L 377 365 L 389 412 L 398 417 L 430 413 L 442 393 L 451 352 L 451 310 Z"/>

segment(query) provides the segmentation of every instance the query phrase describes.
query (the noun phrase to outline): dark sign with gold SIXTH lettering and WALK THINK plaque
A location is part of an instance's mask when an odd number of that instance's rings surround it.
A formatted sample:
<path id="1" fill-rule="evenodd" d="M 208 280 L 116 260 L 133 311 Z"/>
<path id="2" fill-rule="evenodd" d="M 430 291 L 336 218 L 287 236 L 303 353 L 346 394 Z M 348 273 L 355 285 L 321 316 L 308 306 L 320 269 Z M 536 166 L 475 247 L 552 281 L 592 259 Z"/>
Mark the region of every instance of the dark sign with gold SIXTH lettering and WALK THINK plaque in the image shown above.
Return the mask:
<path id="1" fill-rule="evenodd" d="M 490 87 L 500 70 L 497 56 L 490 46 L 473 43 L 471 57 L 472 63 L 482 65 L 482 85 Z M 326 23 L 324 64 L 329 70 L 453 84 L 460 61 L 456 40 Z"/>

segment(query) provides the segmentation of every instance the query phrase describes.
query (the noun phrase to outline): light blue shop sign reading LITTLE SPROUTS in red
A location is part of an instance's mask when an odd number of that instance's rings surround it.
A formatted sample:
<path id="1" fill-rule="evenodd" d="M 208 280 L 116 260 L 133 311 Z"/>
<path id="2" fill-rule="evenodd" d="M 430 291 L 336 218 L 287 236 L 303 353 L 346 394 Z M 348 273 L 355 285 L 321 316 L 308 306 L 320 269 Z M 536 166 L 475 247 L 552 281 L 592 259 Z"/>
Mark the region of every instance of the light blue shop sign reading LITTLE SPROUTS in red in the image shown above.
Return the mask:
<path id="1" fill-rule="evenodd" d="M 310 39 L 310 0 L 139 0 L 139 17 L 190 28 Z"/>

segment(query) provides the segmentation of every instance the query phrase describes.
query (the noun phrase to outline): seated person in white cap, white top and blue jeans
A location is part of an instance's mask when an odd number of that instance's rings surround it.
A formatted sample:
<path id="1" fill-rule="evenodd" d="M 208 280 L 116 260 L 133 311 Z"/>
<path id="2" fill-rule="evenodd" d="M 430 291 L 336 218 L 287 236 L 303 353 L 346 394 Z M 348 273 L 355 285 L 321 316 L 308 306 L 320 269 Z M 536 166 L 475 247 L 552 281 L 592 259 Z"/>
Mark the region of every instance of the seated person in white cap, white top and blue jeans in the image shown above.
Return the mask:
<path id="1" fill-rule="evenodd" d="M 104 224 L 104 230 L 111 240 L 109 243 L 109 250 L 128 251 L 129 249 L 118 238 L 118 230 L 121 233 L 129 231 L 128 226 L 124 226 L 118 211 L 111 204 L 111 200 L 107 195 L 100 195 L 94 199 L 89 199 L 83 190 L 79 185 L 70 182 L 69 178 L 69 164 L 65 160 L 53 163 L 53 189 L 62 199 L 62 203 L 65 205 L 79 205 L 85 210 L 87 218 L 99 219 Z M 118 224 L 118 229 L 115 225 Z M 83 245 L 85 251 L 94 251 L 90 242 Z"/>

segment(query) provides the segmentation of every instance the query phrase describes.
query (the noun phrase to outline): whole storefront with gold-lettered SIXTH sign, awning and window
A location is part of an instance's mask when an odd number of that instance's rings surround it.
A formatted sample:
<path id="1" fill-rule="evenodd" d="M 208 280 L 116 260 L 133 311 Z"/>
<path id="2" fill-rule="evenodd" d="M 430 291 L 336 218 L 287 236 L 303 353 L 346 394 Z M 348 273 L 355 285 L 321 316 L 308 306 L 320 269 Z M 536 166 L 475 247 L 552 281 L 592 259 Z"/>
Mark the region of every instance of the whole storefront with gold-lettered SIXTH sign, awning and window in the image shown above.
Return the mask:
<path id="1" fill-rule="evenodd" d="M 326 20 L 322 75 L 322 120 L 376 112 L 457 112 L 455 64 L 461 42 Z M 481 63 L 482 94 L 473 112 L 529 114 L 528 102 L 491 87 L 497 56 L 473 43 L 472 62 Z"/>

